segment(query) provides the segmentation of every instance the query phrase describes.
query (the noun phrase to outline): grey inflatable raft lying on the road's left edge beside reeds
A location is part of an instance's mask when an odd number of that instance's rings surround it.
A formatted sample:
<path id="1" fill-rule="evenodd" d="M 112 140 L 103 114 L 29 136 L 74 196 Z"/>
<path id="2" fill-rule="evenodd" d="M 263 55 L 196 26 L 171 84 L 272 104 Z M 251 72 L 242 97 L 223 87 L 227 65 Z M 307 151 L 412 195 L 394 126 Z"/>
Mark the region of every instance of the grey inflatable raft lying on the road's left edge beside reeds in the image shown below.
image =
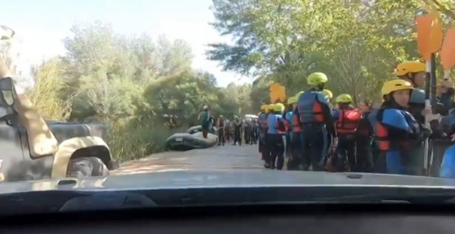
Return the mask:
<path id="1" fill-rule="evenodd" d="M 215 134 L 209 133 L 207 138 L 203 138 L 201 131 L 196 131 L 193 134 L 179 133 L 166 140 L 166 148 L 178 151 L 205 149 L 214 146 L 216 142 L 218 142 L 218 136 Z"/>

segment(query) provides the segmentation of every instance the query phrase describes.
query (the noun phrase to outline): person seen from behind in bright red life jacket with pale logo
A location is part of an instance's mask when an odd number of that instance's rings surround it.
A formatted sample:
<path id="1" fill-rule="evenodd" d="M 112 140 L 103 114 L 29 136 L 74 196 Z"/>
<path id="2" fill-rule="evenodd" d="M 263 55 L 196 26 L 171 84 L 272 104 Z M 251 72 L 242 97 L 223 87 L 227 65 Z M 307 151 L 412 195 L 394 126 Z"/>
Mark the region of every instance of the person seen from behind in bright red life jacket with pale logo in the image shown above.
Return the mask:
<path id="1" fill-rule="evenodd" d="M 346 169 L 360 171 L 356 159 L 356 131 L 362 119 L 361 110 L 352 106 L 353 99 L 349 94 L 341 94 L 335 101 L 338 105 L 338 110 L 334 111 L 336 134 L 338 134 L 336 153 L 340 159 L 337 164 L 338 171 Z"/>

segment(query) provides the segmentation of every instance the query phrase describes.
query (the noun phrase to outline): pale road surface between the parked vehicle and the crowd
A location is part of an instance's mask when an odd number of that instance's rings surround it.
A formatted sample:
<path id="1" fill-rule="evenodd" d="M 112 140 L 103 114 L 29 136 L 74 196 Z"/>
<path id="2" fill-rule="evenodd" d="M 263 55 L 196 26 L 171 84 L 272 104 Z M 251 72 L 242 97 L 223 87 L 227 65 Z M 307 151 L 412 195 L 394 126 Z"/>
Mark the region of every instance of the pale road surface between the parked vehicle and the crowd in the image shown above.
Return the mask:
<path id="1" fill-rule="evenodd" d="M 198 169 L 263 169 L 257 145 L 225 145 L 190 151 L 167 151 L 121 164 L 110 175 Z"/>

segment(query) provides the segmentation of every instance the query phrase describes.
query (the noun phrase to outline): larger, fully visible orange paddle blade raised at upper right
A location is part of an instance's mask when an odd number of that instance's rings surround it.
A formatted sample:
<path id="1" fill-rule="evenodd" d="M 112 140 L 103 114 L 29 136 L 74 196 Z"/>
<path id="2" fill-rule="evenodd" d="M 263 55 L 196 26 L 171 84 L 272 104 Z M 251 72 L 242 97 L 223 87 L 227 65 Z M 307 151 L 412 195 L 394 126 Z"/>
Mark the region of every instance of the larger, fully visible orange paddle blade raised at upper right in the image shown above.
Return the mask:
<path id="1" fill-rule="evenodd" d="M 418 52 L 429 61 L 438 52 L 443 41 L 443 24 L 437 11 L 416 17 Z"/>

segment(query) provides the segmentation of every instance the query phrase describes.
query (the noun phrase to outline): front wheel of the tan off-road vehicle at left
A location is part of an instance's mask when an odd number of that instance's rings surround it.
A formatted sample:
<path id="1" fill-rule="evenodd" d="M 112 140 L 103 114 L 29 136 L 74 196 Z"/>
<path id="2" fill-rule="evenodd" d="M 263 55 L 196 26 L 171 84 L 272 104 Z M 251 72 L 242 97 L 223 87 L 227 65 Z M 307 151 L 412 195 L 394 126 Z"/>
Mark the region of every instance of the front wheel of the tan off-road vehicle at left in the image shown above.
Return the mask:
<path id="1" fill-rule="evenodd" d="M 108 167 L 97 157 L 79 157 L 72 158 L 68 163 L 66 170 L 68 177 L 90 177 L 90 176 L 107 176 L 109 175 Z"/>

